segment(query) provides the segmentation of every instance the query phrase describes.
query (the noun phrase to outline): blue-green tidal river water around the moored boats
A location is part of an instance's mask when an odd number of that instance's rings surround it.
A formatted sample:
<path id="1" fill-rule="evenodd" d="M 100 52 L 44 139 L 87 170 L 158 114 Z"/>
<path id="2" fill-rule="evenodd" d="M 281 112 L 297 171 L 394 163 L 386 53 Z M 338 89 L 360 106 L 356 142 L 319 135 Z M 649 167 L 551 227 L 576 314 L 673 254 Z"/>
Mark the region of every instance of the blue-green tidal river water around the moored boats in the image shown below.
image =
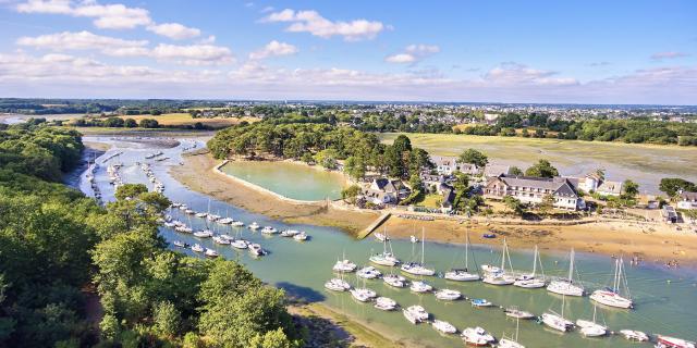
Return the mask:
<path id="1" fill-rule="evenodd" d="M 193 144 L 197 147 L 204 146 L 201 141 L 183 139 L 179 146 L 169 148 L 167 141 L 142 140 L 135 138 L 94 138 L 86 137 L 88 141 L 101 141 L 112 146 L 112 148 L 97 159 L 100 167 L 96 173 L 96 179 L 105 199 L 113 199 L 113 188 L 108 182 L 106 169 L 108 164 L 123 163 L 120 173 L 125 183 L 143 183 L 151 187 L 142 169 L 135 162 L 147 162 L 152 166 L 152 171 L 161 181 L 166 190 L 164 194 L 173 201 L 184 202 L 196 211 L 210 211 L 222 216 L 231 216 L 243 221 L 245 224 L 257 222 L 261 226 L 274 226 L 279 231 L 286 228 L 302 229 L 307 232 L 310 239 L 304 243 L 295 241 L 292 238 L 280 236 L 268 237 L 259 232 L 252 232 L 247 227 L 230 227 L 212 225 L 217 233 L 228 233 L 240 236 L 253 243 L 259 243 L 270 253 L 260 259 L 254 259 L 247 251 L 236 251 L 230 247 L 217 246 L 210 239 L 196 239 L 188 234 L 179 234 L 172 229 L 162 227 L 162 236 L 168 240 L 182 240 L 191 245 L 198 243 L 205 247 L 218 250 L 218 252 L 233 260 L 239 260 L 252 270 L 258 277 L 286 289 L 288 293 L 305 298 L 308 301 L 323 302 L 339 311 L 347 314 L 354 320 L 368 324 L 371 328 L 383 333 L 386 336 L 394 337 L 411 346 L 420 347 L 462 347 L 463 341 L 458 336 L 443 336 L 438 334 L 430 325 L 409 324 L 401 311 L 382 312 L 372 308 L 369 303 L 355 301 L 348 293 L 335 294 L 323 288 L 325 282 L 334 277 L 331 269 L 339 258 L 347 258 L 356 262 L 359 266 L 367 264 L 371 251 L 382 251 L 382 244 L 374 238 L 357 241 L 351 236 L 330 227 L 314 225 L 289 225 L 280 221 L 254 214 L 210 197 L 199 195 L 183 187 L 174 181 L 168 173 L 172 165 L 180 165 L 182 162 L 181 152 L 184 148 L 191 148 Z M 102 160 L 123 151 L 121 156 L 114 157 L 107 163 Z M 169 159 L 163 161 L 146 160 L 145 156 L 162 151 L 158 158 Z M 91 188 L 86 183 L 84 174 L 80 187 L 87 195 L 91 195 Z M 272 202 L 269 202 L 272 203 Z M 179 210 L 171 214 L 193 225 L 195 229 L 203 229 L 206 221 L 192 215 L 185 215 Z M 421 258 L 421 245 L 411 244 L 408 240 L 393 240 L 392 248 L 396 256 L 403 261 L 419 260 Z M 186 252 L 194 257 L 200 257 L 191 250 L 174 248 L 178 251 Z M 473 246 L 469 261 L 474 262 L 500 263 L 499 248 L 487 246 Z M 444 245 L 428 241 L 428 231 L 426 231 L 426 245 L 424 259 L 430 266 L 440 272 L 444 272 L 453 266 L 464 265 L 463 245 Z M 530 270 L 533 264 L 533 253 L 530 250 L 512 250 L 512 264 L 517 270 Z M 547 252 L 541 256 L 543 273 L 548 276 L 563 276 L 567 273 L 568 257 L 567 250 L 558 252 Z M 613 260 L 607 256 L 598 254 L 576 254 L 576 270 L 574 275 L 580 279 L 587 290 L 610 285 L 612 281 Z M 382 268 L 383 273 L 391 272 L 388 268 Z M 539 272 L 538 268 L 538 272 Z M 398 272 L 396 270 L 394 272 Z M 685 339 L 697 339 L 697 271 L 690 268 L 680 270 L 667 270 L 655 264 L 641 264 L 639 266 L 627 265 L 627 284 L 632 297 L 635 299 L 636 309 L 619 310 L 598 307 L 597 321 L 606 323 L 611 331 L 624 328 L 640 330 L 651 334 L 673 335 Z M 344 276 L 353 285 L 363 285 L 355 275 Z M 562 301 L 561 297 L 554 296 L 545 289 L 522 289 L 513 286 L 497 287 L 482 283 L 457 284 L 447 282 L 439 277 L 426 277 L 426 281 L 435 288 L 451 288 L 460 290 L 470 298 L 486 298 L 497 306 L 517 306 L 523 310 L 535 314 L 545 311 L 562 311 L 564 302 L 564 315 L 575 321 L 576 319 L 591 319 L 594 313 L 592 302 L 588 297 L 571 298 L 566 297 Z M 376 290 L 379 296 L 390 297 L 403 308 L 412 304 L 421 304 L 433 319 L 445 320 L 455 325 L 458 331 L 465 327 L 481 326 L 496 337 L 501 337 L 503 333 L 511 337 L 515 334 L 515 322 L 506 319 L 499 307 L 488 309 L 473 308 L 466 300 L 439 301 L 432 294 L 416 295 L 408 288 L 396 289 L 389 287 L 382 281 L 365 281 L 365 286 Z M 578 332 L 561 334 L 552 332 L 543 325 L 534 321 L 519 323 L 518 341 L 527 347 L 650 347 L 649 344 L 629 343 L 620 335 L 610 335 L 603 338 L 583 338 Z"/>

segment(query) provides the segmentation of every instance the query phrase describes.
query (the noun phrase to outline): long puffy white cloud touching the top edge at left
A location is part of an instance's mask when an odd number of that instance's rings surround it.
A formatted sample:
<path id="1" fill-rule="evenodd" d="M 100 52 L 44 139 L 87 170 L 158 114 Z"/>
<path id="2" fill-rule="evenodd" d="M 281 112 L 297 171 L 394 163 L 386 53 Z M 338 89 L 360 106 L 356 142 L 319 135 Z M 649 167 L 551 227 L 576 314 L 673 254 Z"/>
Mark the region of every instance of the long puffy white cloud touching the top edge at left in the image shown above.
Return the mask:
<path id="1" fill-rule="evenodd" d="M 130 8 L 122 3 L 99 4 L 94 0 L 73 2 L 71 0 L 27 0 L 19 3 L 21 13 L 65 14 L 93 18 L 93 24 L 101 29 L 132 29 L 146 26 L 148 30 L 172 39 L 193 38 L 200 35 L 197 28 L 179 23 L 156 24 L 148 10 Z"/>

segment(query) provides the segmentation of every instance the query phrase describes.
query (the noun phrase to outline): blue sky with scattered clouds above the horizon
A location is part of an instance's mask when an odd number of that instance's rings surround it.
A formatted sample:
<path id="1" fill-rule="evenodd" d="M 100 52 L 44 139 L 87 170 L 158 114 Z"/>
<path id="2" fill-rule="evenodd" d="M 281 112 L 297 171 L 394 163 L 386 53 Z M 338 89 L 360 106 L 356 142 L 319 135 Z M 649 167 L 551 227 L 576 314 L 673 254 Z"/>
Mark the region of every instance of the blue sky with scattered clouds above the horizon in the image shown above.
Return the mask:
<path id="1" fill-rule="evenodd" d="M 0 96 L 697 103 L 695 1 L 0 0 Z"/>

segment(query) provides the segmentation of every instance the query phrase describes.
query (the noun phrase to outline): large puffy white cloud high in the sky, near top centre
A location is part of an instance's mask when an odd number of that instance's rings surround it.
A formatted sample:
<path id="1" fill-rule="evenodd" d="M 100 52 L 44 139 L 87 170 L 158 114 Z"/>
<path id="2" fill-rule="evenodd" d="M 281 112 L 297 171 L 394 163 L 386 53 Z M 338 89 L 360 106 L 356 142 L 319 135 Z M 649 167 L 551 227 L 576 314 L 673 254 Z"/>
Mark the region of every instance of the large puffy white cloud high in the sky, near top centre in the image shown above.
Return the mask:
<path id="1" fill-rule="evenodd" d="M 291 25 L 286 28 L 288 32 L 309 33 L 321 38 L 341 36 L 346 41 L 372 39 L 386 29 L 386 25 L 377 21 L 332 22 L 322 17 L 317 11 L 294 11 L 291 9 L 271 13 L 261 21 L 289 22 Z"/>

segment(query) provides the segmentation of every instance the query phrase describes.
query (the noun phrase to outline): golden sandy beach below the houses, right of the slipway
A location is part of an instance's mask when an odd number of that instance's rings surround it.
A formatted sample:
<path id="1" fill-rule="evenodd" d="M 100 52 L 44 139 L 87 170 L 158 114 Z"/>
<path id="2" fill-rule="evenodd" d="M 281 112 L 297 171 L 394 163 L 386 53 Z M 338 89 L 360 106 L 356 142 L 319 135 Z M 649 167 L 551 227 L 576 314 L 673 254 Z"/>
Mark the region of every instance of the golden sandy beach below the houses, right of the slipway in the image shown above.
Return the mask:
<path id="1" fill-rule="evenodd" d="M 512 248 L 531 249 L 536 245 L 542 250 L 567 251 L 574 248 L 583 252 L 596 252 L 608 256 L 621 256 L 626 259 L 665 263 L 676 260 L 683 264 L 697 264 L 697 235 L 684 228 L 657 223 L 645 224 L 632 221 L 585 222 L 559 225 L 555 222 L 540 224 L 516 223 L 515 220 L 493 221 L 484 217 L 472 223 L 455 220 L 421 221 L 391 216 L 382 224 L 390 236 L 408 238 L 420 231 L 427 232 L 426 238 L 441 243 L 464 243 L 467 232 L 473 244 L 500 245 L 505 237 Z M 498 238 L 484 238 L 485 233 L 493 232 Z"/>

